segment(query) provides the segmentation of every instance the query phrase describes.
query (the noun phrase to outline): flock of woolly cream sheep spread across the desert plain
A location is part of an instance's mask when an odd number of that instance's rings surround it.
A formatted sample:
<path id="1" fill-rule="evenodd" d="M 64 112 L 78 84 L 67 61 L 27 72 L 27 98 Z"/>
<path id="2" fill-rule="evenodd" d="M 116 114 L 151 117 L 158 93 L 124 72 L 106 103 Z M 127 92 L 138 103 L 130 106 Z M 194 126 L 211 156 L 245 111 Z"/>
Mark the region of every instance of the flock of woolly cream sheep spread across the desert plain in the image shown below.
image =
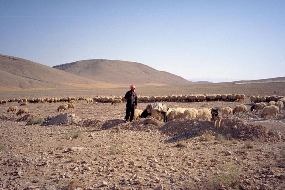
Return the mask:
<path id="1" fill-rule="evenodd" d="M 244 101 L 245 95 L 244 94 L 230 94 L 230 95 L 172 95 L 172 96 L 138 96 L 138 102 L 171 102 L 171 101 Z M 284 96 L 250 96 L 251 103 L 255 103 L 251 107 L 251 111 L 253 110 L 262 110 L 261 117 L 266 117 L 267 115 L 274 115 L 277 116 L 279 110 L 282 110 L 285 104 L 285 97 Z M 94 98 L 84 98 L 84 97 L 67 97 L 67 98 L 23 98 L 23 99 L 6 99 L 0 100 L 0 104 L 7 104 L 8 102 L 17 102 L 20 103 L 20 106 L 28 105 L 28 103 L 52 103 L 52 102 L 66 102 L 66 104 L 61 104 L 57 111 L 66 110 L 66 109 L 75 109 L 76 101 L 83 101 L 85 100 L 87 104 L 92 104 L 95 102 L 102 102 L 102 103 L 111 103 L 113 104 L 121 104 L 125 102 L 124 97 L 121 96 L 114 96 L 114 97 L 106 97 L 106 96 L 96 96 Z M 22 108 L 18 110 L 17 106 L 11 106 L 7 110 L 7 112 L 16 112 L 17 115 L 27 114 L 29 110 L 27 108 Z M 139 109 L 135 109 L 135 116 L 133 120 L 137 120 L 140 118 L 140 115 L 143 111 Z M 232 110 L 230 107 L 221 108 L 222 115 L 231 115 L 231 114 L 238 114 L 242 112 L 242 114 L 247 114 L 247 107 L 244 104 L 240 104 L 235 106 Z M 178 118 L 198 118 L 198 119 L 209 119 L 211 117 L 211 109 L 209 108 L 202 108 L 202 109 L 195 109 L 195 108 L 175 108 L 169 109 L 167 112 L 168 121 Z M 157 118 L 162 119 L 162 118 Z"/>

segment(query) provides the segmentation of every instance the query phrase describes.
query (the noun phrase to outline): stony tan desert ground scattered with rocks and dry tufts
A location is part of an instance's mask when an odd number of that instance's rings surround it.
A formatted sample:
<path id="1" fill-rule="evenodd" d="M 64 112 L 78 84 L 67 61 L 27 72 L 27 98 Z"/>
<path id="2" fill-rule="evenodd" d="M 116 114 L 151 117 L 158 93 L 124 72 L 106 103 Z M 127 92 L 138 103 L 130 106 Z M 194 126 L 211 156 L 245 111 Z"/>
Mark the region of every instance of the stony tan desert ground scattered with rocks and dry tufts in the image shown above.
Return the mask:
<path id="1" fill-rule="evenodd" d="M 285 83 L 139 87 L 138 95 L 245 94 L 244 102 L 167 102 L 170 108 L 247 106 L 215 128 L 210 121 L 139 119 L 125 104 L 29 104 L 28 115 L 0 105 L 0 189 L 285 189 L 285 113 L 260 118 L 250 95 L 285 95 Z M 0 99 L 121 95 L 126 88 L 0 92 Z M 145 109 L 149 103 L 139 103 Z M 46 123 L 27 125 L 32 118 Z M 280 132 L 280 138 L 274 133 Z M 74 148 L 81 147 L 81 148 Z"/>

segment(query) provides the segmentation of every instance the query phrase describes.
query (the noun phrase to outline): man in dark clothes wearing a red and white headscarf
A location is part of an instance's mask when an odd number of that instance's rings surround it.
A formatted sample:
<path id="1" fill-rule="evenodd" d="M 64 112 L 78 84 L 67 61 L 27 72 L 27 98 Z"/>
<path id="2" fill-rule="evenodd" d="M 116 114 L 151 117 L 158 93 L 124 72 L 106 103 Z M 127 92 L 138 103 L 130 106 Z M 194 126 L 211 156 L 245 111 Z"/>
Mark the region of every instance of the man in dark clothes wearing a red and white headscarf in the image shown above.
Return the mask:
<path id="1" fill-rule="evenodd" d="M 137 94 L 135 93 L 135 86 L 130 86 L 130 91 L 128 91 L 125 95 L 125 99 L 127 100 L 126 105 L 126 117 L 125 117 L 125 123 L 130 118 L 130 122 L 133 120 L 134 114 L 135 114 L 135 108 L 137 108 Z"/>

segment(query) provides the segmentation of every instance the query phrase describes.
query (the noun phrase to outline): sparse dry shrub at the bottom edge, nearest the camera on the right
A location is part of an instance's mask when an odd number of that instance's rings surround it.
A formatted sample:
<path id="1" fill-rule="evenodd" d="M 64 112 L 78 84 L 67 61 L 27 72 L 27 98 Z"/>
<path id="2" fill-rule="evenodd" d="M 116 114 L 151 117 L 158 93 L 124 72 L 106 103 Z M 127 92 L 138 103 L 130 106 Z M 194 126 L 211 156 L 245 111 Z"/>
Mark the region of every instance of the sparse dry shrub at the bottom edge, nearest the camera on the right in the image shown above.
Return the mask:
<path id="1" fill-rule="evenodd" d="M 216 166 L 218 173 L 209 176 L 206 181 L 206 188 L 209 190 L 219 189 L 222 186 L 233 187 L 239 181 L 240 166 L 234 162 L 227 164 L 219 164 Z"/>

